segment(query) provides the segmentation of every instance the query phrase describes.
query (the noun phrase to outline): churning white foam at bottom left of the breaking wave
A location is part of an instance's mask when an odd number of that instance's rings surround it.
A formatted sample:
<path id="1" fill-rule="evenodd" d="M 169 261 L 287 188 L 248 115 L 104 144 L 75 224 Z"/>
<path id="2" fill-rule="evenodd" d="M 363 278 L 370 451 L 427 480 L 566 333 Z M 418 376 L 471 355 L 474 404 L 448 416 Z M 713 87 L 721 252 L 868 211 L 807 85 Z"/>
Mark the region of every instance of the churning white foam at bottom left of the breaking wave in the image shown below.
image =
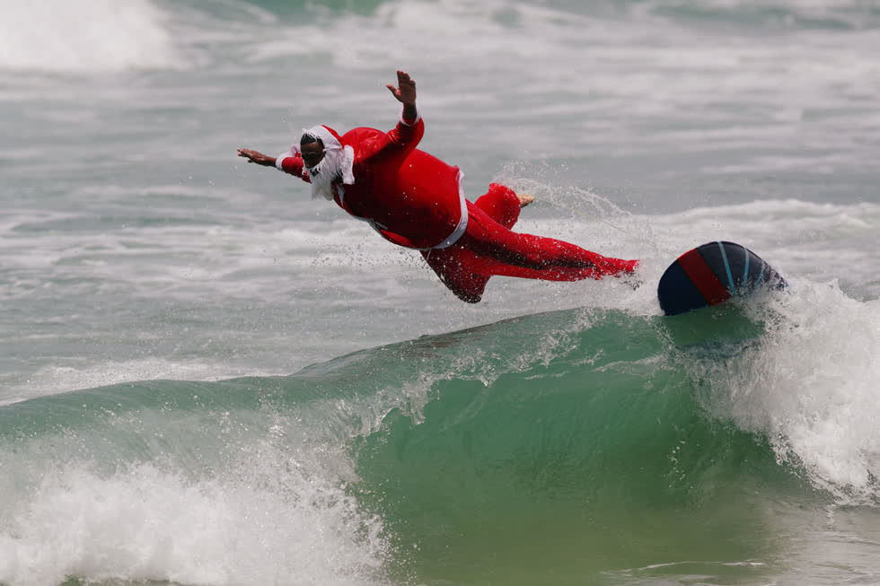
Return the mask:
<path id="1" fill-rule="evenodd" d="M 241 476 L 190 480 L 154 465 L 110 476 L 85 465 L 46 471 L 30 494 L 4 494 L 0 582 L 66 576 L 187 584 L 383 583 L 380 520 L 339 483 L 303 476 L 293 458 Z M 266 473 L 268 472 L 268 476 Z M 265 482 L 269 478 L 270 482 Z M 261 480 L 262 479 L 262 480 Z"/>

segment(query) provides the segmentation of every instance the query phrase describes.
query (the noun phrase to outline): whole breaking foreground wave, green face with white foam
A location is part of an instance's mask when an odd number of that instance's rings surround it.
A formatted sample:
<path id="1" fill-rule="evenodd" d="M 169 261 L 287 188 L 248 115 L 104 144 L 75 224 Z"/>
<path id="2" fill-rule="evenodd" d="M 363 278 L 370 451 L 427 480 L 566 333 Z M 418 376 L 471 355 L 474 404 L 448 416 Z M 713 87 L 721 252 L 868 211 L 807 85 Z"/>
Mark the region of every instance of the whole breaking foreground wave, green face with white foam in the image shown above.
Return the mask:
<path id="1" fill-rule="evenodd" d="M 771 307 L 555 311 L 287 377 L 3 407 L 0 580 L 784 573 L 806 537 L 796 522 L 828 507 L 876 516 L 880 451 L 869 389 L 791 380 L 781 343 L 809 361 L 821 334 L 804 342 L 787 302 Z M 820 393 L 849 417 L 817 418 Z"/>

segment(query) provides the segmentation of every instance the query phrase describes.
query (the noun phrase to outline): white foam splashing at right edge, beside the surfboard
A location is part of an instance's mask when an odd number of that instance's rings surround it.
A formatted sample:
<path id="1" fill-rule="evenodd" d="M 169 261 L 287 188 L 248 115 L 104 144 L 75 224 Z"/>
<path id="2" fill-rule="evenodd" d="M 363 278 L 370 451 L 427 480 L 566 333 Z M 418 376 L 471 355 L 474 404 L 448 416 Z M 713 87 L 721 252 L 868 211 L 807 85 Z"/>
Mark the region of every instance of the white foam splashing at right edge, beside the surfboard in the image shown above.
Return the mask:
<path id="1" fill-rule="evenodd" d="M 731 363 L 707 363 L 718 417 L 766 434 L 779 459 L 844 503 L 880 490 L 880 301 L 858 302 L 835 283 L 792 281 L 770 310 L 761 345 Z"/>

